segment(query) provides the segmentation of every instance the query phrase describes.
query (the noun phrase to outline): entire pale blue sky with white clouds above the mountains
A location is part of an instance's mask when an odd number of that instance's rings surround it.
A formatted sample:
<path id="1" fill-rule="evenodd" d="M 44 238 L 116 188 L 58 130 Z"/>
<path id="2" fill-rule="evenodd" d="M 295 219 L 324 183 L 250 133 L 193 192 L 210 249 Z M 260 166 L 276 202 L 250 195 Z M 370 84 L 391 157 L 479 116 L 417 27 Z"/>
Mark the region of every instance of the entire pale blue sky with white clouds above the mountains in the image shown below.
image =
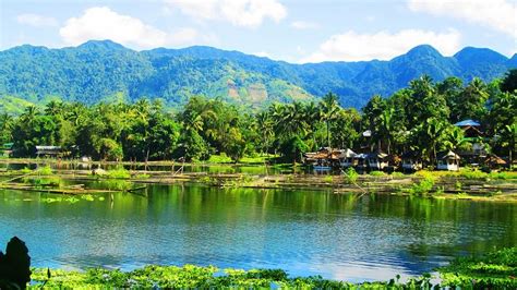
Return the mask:
<path id="1" fill-rule="evenodd" d="M 517 0 L 1 0 L 0 50 L 111 39 L 289 62 L 390 59 L 420 44 L 517 52 Z"/>

